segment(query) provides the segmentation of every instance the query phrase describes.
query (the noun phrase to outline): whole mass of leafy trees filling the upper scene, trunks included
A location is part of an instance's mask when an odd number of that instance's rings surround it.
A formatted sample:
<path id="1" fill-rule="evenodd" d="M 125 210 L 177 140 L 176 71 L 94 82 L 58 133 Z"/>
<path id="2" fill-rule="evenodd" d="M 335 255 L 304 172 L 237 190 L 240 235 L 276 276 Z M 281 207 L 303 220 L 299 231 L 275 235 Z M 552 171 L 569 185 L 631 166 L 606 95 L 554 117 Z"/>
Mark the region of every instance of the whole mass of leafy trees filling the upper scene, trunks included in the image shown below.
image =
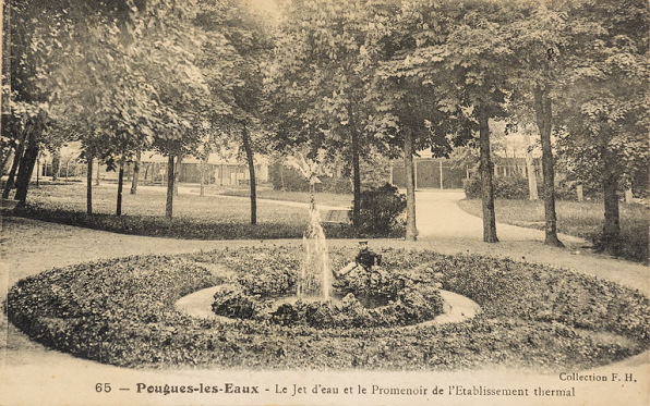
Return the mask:
<path id="1" fill-rule="evenodd" d="M 206 128 L 218 128 L 221 142 L 238 142 L 252 180 L 255 153 L 270 148 L 345 162 L 358 219 L 360 161 L 371 152 L 404 153 L 412 181 L 417 150 L 444 157 L 476 139 L 484 239 L 496 242 L 490 125 L 505 119 L 538 125 L 546 241 L 559 244 L 556 147 L 569 180 L 601 184 L 603 247 L 615 250 L 617 192 L 649 161 L 645 2 L 292 0 L 278 26 L 251 4 L 11 2 L 12 111 L 0 150 L 20 162 L 10 171 L 16 197 L 24 200 L 43 146 L 56 150 L 61 134 L 83 142 L 88 163 L 99 157 L 117 168 L 145 148 L 170 165 L 205 158 L 219 138 Z M 254 182 L 251 208 L 255 222 Z"/>

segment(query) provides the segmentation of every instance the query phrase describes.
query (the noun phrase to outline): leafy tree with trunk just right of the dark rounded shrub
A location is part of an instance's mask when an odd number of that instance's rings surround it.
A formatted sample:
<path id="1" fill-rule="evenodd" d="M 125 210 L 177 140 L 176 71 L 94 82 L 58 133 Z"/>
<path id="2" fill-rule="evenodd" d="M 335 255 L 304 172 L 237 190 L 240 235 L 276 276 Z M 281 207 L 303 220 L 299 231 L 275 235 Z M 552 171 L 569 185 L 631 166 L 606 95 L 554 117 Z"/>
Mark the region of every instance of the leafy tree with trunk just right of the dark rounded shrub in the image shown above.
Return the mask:
<path id="1" fill-rule="evenodd" d="M 389 12 L 389 9 L 386 9 Z M 388 15 L 392 13 L 388 13 Z M 376 16 L 375 16 L 376 21 Z M 387 28 L 374 29 L 373 49 L 382 56 L 375 74 L 373 121 L 376 137 L 401 149 L 407 177 L 406 238 L 414 241 L 416 193 L 413 155 L 425 148 L 436 157 L 447 157 L 453 146 L 467 143 L 468 121 L 457 118 L 445 104 L 445 85 L 438 47 L 447 40 L 445 22 L 434 4 L 405 3 Z M 369 47 L 370 48 L 370 47 Z"/>

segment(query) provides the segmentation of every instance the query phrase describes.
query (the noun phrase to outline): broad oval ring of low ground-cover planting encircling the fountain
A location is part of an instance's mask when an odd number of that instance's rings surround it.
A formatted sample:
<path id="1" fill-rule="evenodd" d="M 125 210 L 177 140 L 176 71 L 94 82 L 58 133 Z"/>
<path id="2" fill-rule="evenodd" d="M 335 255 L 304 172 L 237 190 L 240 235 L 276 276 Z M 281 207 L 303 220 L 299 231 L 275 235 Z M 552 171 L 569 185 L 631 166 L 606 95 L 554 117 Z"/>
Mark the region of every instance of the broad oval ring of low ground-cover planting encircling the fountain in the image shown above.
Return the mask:
<path id="1" fill-rule="evenodd" d="M 471 298 L 482 312 L 402 329 L 224 322 L 174 309 L 180 297 L 228 282 L 224 266 L 240 278 L 274 275 L 251 282 L 261 290 L 294 283 L 298 244 L 52 269 L 20 281 L 5 306 L 11 322 L 33 340 L 125 367 L 457 370 L 497 364 L 566 370 L 619 360 L 650 343 L 648 297 L 615 283 L 507 259 L 382 254 L 386 270 L 440 273 L 444 290 Z M 333 249 L 333 266 L 354 255 Z"/>

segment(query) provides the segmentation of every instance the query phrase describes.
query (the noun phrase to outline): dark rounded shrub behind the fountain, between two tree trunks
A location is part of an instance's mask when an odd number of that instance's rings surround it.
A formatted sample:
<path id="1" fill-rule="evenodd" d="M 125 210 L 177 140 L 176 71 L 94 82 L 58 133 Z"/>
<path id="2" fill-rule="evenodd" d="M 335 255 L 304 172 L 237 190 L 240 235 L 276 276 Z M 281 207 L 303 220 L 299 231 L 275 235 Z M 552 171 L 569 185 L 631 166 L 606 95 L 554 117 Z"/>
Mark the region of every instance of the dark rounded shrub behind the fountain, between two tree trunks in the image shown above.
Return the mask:
<path id="1" fill-rule="evenodd" d="M 400 214 L 406 209 L 406 198 L 397 187 L 386 183 L 382 187 L 364 190 L 360 196 L 359 226 L 362 234 L 390 235 L 404 229 Z M 349 213 L 350 219 L 352 212 Z"/>

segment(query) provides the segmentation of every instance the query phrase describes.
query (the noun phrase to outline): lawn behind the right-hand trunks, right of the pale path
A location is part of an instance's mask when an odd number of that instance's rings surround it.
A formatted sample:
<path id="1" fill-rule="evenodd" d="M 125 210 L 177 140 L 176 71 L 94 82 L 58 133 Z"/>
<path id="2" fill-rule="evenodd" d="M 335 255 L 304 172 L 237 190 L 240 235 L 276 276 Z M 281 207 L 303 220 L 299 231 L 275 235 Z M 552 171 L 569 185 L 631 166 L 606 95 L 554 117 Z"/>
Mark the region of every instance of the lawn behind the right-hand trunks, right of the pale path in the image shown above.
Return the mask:
<path id="1" fill-rule="evenodd" d="M 461 200 L 458 206 L 470 214 L 482 217 L 481 200 Z M 600 201 L 556 201 L 557 230 L 561 233 L 595 242 L 600 237 L 604 207 Z M 544 230 L 542 200 L 495 201 L 496 221 Z M 648 261 L 648 210 L 638 204 L 621 204 L 621 257 Z"/>

